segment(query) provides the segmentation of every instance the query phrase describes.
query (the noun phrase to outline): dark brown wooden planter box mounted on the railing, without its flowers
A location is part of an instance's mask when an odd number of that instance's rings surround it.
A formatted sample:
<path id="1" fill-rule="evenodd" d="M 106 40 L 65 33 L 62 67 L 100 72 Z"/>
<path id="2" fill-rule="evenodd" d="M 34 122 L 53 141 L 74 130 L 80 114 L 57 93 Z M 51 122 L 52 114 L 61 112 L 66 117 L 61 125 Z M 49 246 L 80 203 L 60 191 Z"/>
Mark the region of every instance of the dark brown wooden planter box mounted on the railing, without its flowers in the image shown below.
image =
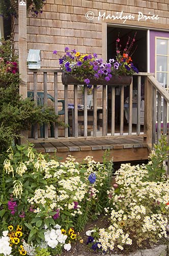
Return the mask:
<path id="1" fill-rule="evenodd" d="M 80 77 L 80 76 L 79 76 Z M 125 75 L 114 75 L 110 78 L 108 82 L 102 79 L 95 79 L 93 75 L 89 74 L 84 79 L 90 79 L 90 84 L 102 85 L 102 86 L 129 86 L 131 83 L 131 76 Z M 63 84 L 84 84 L 78 80 L 78 76 L 73 74 L 62 73 L 62 83 Z"/>

